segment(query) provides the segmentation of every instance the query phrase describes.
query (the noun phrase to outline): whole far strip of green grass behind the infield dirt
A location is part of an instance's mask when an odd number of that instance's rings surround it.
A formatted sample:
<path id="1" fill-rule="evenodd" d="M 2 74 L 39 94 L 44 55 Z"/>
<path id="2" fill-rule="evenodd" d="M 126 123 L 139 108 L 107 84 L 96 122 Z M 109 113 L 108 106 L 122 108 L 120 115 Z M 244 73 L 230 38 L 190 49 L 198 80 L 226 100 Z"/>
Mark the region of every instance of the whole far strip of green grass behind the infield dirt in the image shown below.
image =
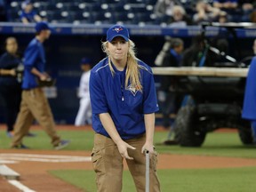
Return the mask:
<path id="1" fill-rule="evenodd" d="M 36 138 L 24 138 L 24 144 L 33 149 L 52 149 L 51 140 L 44 131 L 32 130 L 37 134 Z M 91 151 L 93 146 L 92 131 L 61 131 L 62 139 L 71 140 L 67 150 Z M 167 138 L 168 132 L 156 132 L 155 143 L 158 153 L 188 154 L 196 156 L 236 156 L 256 158 L 255 147 L 244 146 L 236 132 L 210 132 L 207 134 L 204 145 L 201 148 L 182 148 L 180 146 L 160 145 Z M 0 148 L 10 148 L 11 140 L 6 137 L 4 130 L 0 131 Z"/>

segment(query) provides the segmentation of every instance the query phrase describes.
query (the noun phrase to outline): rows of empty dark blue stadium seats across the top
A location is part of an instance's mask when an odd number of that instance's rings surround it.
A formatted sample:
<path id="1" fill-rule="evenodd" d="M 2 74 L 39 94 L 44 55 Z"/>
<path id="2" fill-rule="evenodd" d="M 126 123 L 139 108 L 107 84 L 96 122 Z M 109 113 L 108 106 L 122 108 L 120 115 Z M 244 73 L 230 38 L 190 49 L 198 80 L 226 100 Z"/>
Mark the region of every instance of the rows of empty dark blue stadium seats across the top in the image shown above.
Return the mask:
<path id="1" fill-rule="evenodd" d="M 20 21 L 20 0 L 10 0 L 6 4 L 7 21 Z M 52 23 L 92 23 L 92 24 L 160 24 L 168 25 L 166 18 L 159 19 L 154 13 L 157 0 L 39 0 L 32 1 L 36 12 Z M 196 13 L 196 2 L 192 0 L 178 1 L 191 18 Z M 243 1 L 241 1 L 243 2 Z M 212 0 L 207 1 L 212 4 Z M 234 14 L 229 17 L 230 21 L 249 21 L 250 15 L 244 13 L 242 3 Z M 245 14 L 242 15 L 241 14 Z M 228 12 L 229 14 L 229 12 Z M 246 15 L 247 14 L 247 15 Z M 168 20 L 168 18 L 167 18 Z"/>

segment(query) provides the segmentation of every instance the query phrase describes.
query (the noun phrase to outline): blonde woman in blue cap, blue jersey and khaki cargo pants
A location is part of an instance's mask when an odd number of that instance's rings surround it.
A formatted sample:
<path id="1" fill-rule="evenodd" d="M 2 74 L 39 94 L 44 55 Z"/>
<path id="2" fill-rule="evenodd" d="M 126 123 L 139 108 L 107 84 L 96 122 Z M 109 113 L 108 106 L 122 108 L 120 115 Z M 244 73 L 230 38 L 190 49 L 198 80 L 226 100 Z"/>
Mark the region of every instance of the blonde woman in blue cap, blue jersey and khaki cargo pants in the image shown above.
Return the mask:
<path id="1" fill-rule="evenodd" d="M 153 146 L 156 88 L 151 68 L 135 56 L 128 29 L 108 28 L 107 57 L 91 71 L 92 164 L 98 192 L 122 191 L 123 159 L 137 191 L 145 191 L 145 151 L 150 154 L 150 191 L 160 191 Z"/>

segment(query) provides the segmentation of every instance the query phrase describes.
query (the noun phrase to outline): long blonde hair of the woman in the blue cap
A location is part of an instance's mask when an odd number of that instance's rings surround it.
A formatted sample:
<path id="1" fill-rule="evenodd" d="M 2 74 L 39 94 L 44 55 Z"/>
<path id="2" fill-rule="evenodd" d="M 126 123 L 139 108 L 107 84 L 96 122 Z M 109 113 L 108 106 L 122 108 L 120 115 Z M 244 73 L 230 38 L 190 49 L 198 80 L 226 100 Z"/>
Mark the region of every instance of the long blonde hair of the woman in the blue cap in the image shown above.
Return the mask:
<path id="1" fill-rule="evenodd" d="M 111 60 L 109 57 L 109 52 L 107 50 L 108 46 L 108 41 L 107 42 L 102 42 L 102 51 L 106 52 L 108 55 L 108 66 L 110 68 L 112 76 L 115 75 L 115 70 L 111 64 Z M 142 85 L 140 83 L 140 65 L 138 65 L 138 59 L 136 58 L 135 55 L 135 44 L 132 42 L 132 40 L 129 39 L 128 44 L 129 50 L 127 53 L 127 68 L 126 68 L 126 73 L 125 73 L 125 88 L 128 86 L 128 82 L 130 80 L 130 83 L 132 84 L 132 87 L 134 87 L 136 90 L 142 92 Z"/>

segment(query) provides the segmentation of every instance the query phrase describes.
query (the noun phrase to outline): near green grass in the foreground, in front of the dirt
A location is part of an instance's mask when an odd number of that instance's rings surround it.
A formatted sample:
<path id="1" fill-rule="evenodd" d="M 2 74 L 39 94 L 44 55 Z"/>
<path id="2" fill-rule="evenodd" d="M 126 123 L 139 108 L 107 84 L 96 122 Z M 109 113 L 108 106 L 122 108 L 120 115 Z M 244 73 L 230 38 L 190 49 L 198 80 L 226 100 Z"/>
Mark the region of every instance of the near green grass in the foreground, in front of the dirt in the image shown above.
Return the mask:
<path id="1" fill-rule="evenodd" d="M 233 169 L 159 170 L 158 176 L 163 192 L 254 192 L 256 167 Z M 94 192 L 93 171 L 51 171 L 61 180 Z M 136 191 L 130 172 L 124 171 L 123 192 Z"/>

